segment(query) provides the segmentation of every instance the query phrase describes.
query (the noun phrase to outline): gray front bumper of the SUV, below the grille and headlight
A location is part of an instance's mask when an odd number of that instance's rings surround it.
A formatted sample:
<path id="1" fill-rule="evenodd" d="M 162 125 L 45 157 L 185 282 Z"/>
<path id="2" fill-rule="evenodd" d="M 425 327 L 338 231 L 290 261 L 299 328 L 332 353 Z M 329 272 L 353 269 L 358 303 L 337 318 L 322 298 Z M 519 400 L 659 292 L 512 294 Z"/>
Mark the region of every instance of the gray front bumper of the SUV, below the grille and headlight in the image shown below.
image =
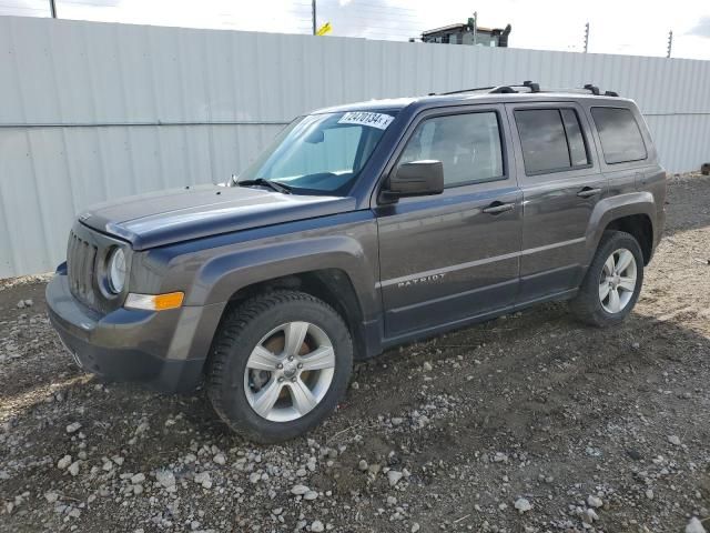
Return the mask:
<path id="1" fill-rule="evenodd" d="M 49 318 L 77 363 L 108 381 L 162 392 L 199 385 L 223 305 L 169 311 L 118 309 L 99 314 L 78 302 L 67 275 L 47 286 Z"/>

